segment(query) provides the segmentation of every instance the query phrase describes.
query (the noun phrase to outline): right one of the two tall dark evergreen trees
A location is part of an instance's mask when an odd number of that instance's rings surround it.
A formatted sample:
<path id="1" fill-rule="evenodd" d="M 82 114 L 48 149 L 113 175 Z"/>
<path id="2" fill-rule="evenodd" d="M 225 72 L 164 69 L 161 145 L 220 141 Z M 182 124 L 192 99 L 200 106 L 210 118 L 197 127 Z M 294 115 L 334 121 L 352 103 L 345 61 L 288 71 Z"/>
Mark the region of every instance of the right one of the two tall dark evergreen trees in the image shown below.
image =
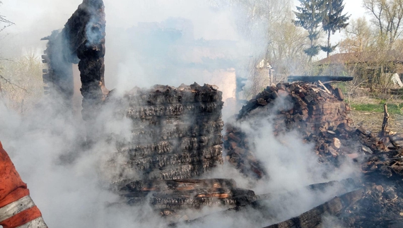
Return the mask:
<path id="1" fill-rule="evenodd" d="M 342 14 L 344 10 L 343 0 L 325 0 L 323 18 L 322 18 L 322 28 L 327 32 L 327 46 L 322 46 L 322 51 L 327 53 L 327 57 L 329 57 L 330 52 L 333 52 L 337 47 L 332 46 L 330 44 L 330 35 L 336 32 L 337 30 L 341 30 L 342 28 L 346 28 L 349 23 L 349 16 L 347 13 Z"/>

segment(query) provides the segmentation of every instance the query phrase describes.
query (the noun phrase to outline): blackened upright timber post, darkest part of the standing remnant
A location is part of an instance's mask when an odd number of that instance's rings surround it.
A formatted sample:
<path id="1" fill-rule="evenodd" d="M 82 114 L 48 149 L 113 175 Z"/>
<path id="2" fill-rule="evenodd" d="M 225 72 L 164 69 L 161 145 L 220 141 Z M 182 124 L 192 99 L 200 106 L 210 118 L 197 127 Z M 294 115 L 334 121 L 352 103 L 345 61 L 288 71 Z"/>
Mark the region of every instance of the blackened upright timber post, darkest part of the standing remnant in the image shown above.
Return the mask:
<path id="1" fill-rule="evenodd" d="M 77 56 L 83 95 L 83 119 L 88 120 L 105 100 L 105 6 L 103 0 L 84 0 L 64 25 L 71 56 Z"/>

